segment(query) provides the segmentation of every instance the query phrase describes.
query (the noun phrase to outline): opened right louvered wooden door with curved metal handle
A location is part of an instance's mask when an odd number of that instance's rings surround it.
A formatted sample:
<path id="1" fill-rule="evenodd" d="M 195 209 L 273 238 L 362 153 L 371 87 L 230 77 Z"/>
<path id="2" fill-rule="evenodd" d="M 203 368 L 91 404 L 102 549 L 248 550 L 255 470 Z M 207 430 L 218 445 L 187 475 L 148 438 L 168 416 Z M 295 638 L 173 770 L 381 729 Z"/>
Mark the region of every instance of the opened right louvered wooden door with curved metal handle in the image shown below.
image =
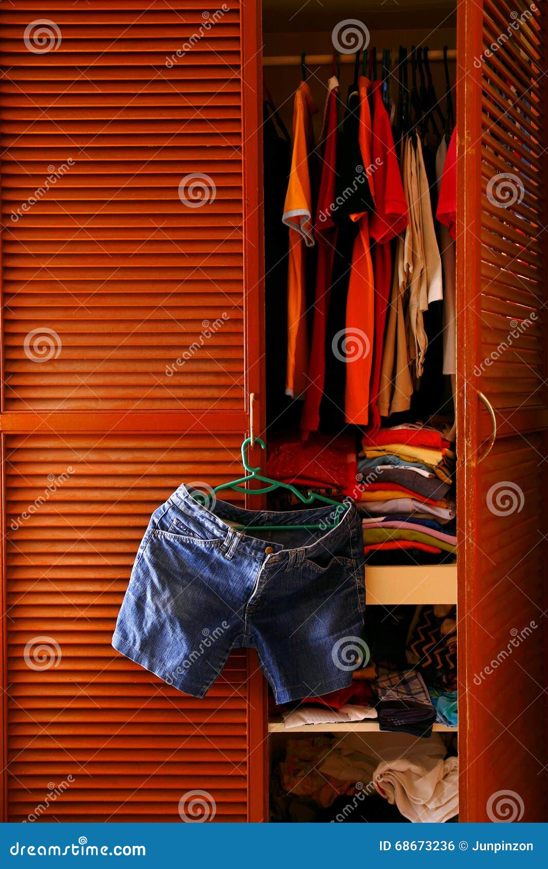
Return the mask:
<path id="1" fill-rule="evenodd" d="M 545 11 L 523 0 L 459 4 L 459 756 L 469 821 L 545 820 Z M 497 434 L 487 454 L 489 405 Z"/>

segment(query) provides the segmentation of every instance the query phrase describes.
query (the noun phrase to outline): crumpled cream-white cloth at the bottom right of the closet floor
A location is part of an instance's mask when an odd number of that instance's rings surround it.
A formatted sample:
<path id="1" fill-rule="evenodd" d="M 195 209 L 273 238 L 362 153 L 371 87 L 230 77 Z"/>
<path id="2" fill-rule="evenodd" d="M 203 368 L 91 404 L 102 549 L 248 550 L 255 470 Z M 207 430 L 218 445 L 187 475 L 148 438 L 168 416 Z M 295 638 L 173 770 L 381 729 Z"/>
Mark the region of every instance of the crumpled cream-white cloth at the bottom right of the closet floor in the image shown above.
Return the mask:
<path id="1" fill-rule="evenodd" d="M 413 746 L 405 757 L 381 761 L 373 783 L 381 796 L 415 823 L 442 824 L 459 812 L 456 757 L 427 757 L 420 753 L 420 746 Z"/>

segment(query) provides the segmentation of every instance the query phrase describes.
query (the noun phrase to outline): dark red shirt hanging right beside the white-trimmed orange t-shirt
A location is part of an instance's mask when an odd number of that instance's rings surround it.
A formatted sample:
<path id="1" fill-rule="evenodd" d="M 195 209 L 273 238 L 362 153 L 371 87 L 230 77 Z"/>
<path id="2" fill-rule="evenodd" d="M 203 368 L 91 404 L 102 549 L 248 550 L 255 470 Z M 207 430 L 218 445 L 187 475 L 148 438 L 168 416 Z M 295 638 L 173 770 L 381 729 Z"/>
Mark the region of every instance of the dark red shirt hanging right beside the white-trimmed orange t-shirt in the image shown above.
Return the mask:
<path id="1" fill-rule="evenodd" d="M 314 295 L 314 325 L 312 348 L 308 365 L 305 403 L 302 408 L 300 428 L 304 440 L 320 427 L 320 403 L 326 374 L 326 327 L 327 310 L 333 274 L 333 259 L 337 244 L 338 228 L 333 222 L 337 178 L 337 141 L 339 118 L 337 103 L 339 82 L 332 76 L 327 83 L 327 101 L 322 132 L 323 155 L 321 164 L 320 193 L 314 221 L 314 236 L 318 242 Z"/>

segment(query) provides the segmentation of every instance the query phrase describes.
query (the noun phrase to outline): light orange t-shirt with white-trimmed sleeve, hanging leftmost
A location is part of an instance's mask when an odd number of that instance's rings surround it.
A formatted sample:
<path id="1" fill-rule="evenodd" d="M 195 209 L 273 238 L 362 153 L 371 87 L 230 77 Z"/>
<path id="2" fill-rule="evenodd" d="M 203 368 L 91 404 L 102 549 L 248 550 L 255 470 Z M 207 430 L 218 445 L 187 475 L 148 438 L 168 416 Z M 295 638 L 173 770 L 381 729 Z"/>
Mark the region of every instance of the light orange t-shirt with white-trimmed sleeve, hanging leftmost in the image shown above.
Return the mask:
<path id="1" fill-rule="evenodd" d="M 304 395 L 307 385 L 306 256 L 307 248 L 314 246 L 308 162 L 314 151 L 312 116 L 317 111 L 310 88 L 306 82 L 301 82 L 295 93 L 293 154 L 282 218 L 289 227 L 286 395 L 292 398 Z"/>

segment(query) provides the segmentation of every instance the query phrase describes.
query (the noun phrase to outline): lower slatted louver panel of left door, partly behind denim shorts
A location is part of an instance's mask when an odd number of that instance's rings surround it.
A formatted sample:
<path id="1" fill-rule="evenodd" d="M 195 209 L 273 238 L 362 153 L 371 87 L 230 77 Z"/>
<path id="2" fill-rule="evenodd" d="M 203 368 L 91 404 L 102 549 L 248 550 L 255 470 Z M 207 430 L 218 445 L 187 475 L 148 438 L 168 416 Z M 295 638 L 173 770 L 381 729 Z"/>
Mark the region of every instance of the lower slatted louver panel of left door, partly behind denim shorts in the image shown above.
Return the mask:
<path id="1" fill-rule="evenodd" d="M 246 820 L 245 653 L 234 653 L 196 700 L 110 646 L 151 510 L 182 478 L 234 475 L 240 439 L 225 435 L 223 443 L 221 450 L 211 436 L 174 443 L 135 435 L 130 447 L 113 435 L 100 446 L 84 435 L 6 436 L 10 820 L 34 813 L 50 784 L 69 775 L 74 782 L 40 820 L 151 813 L 179 821 L 179 799 L 196 787 L 215 799 L 216 819 Z M 48 474 L 62 482 L 41 501 Z M 43 670 L 27 663 L 39 636 L 54 650 Z"/>

